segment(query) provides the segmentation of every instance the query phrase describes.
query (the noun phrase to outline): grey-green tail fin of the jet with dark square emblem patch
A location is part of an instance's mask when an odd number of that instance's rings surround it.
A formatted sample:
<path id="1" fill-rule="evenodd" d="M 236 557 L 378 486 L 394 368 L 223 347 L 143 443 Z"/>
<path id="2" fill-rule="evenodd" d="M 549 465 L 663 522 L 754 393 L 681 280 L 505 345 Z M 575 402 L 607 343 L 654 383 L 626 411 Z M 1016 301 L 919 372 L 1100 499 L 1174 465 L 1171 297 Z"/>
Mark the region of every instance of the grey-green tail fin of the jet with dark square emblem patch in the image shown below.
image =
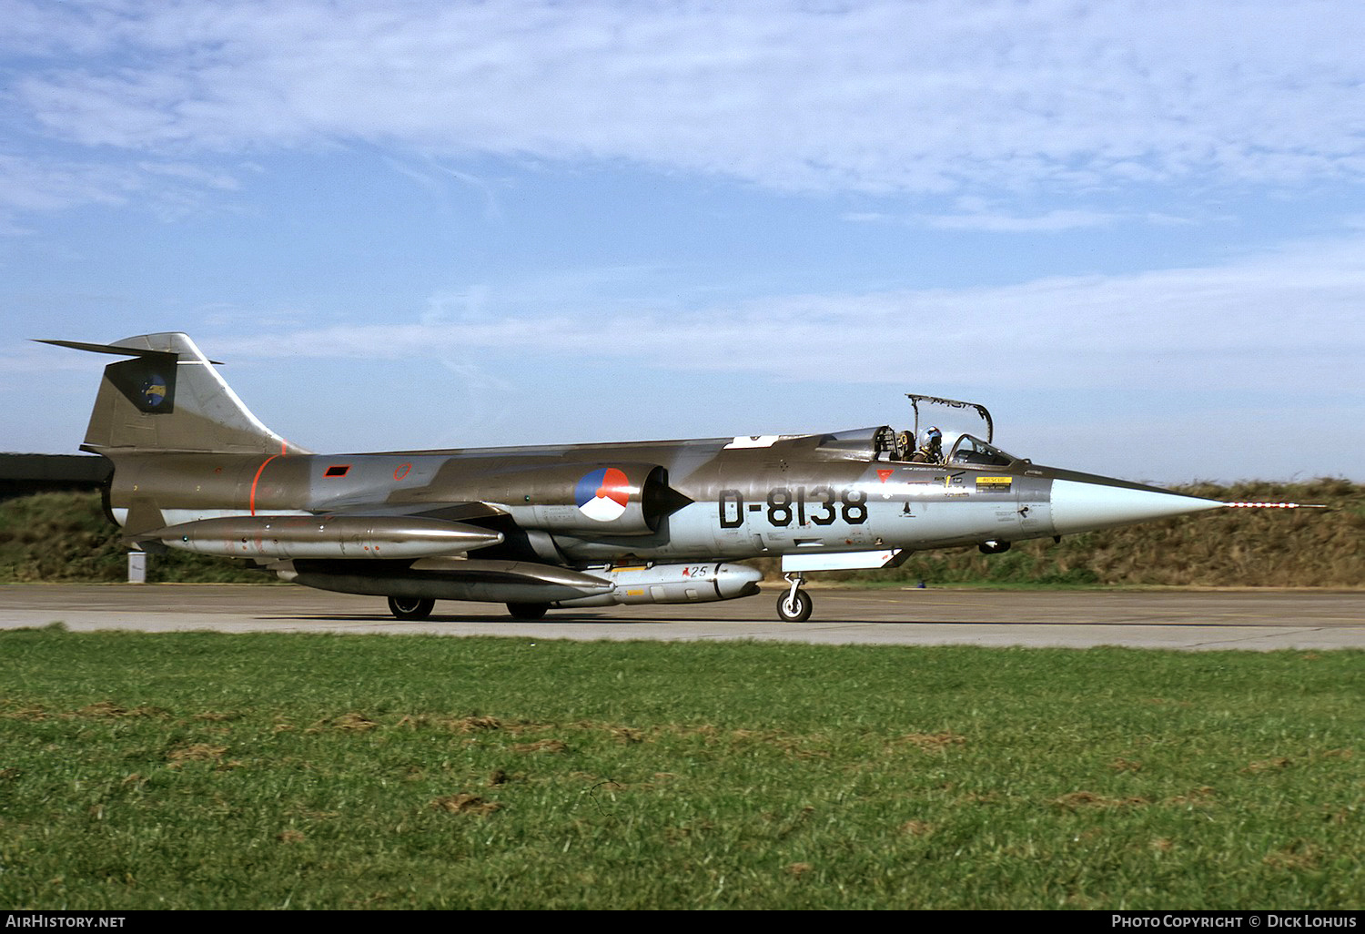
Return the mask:
<path id="1" fill-rule="evenodd" d="M 262 425 L 187 335 L 40 343 L 132 358 L 104 367 L 82 451 L 308 453 Z"/>

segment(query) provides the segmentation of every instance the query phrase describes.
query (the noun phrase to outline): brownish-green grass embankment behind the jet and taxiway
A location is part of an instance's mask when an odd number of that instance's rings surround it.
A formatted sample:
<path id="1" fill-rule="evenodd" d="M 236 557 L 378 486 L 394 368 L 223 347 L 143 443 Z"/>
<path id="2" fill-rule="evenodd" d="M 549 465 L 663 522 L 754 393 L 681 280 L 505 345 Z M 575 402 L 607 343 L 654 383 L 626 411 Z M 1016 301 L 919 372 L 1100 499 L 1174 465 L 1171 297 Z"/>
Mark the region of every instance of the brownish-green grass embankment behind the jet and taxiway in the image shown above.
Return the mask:
<path id="1" fill-rule="evenodd" d="M 1365 486 L 1310 483 L 1198 485 L 1182 492 L 1215 500 L 1321 503 L 1323 509 L 1227 509 L 1127 528 L 1018 542 L 1005 554 L 975 548 L 923 552 L 901 568 L 814 575 L 816 580 L 904 586 L 1164 584 L 1213 587 L 1360 587 L 1365 584 Z M 770 576 L 775 561 L 756 561 Z M 127 578 L 119 531 L 94 494 L 45 493 L 0 504 L 0 582 Z M 184 552 L 152 556 L 152 582 L 257 582 L 270 575 Z"/>

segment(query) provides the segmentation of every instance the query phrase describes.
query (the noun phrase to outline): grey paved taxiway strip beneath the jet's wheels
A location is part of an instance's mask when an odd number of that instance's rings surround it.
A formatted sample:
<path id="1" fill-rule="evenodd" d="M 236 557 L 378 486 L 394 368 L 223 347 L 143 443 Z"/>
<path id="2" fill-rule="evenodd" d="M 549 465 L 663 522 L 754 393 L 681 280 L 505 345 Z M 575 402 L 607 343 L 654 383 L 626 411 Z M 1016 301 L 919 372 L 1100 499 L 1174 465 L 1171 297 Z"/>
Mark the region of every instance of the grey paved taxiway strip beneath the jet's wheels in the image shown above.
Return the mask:
<path id="1" fill-rule="evenodd" d="M 82 632 L 355 632 L 534 639 L 762 639 L 823 645 L 1132 646 L 1182 650 L 1365 649 L 1365 590 L 837 590 L 812 587 L 807 623 L 778 621 L 779 587 L 721 604 L 550 610 L 438 602 L 403 623 L 377 597 L 250 584 L 7 584 L 0 628 Z"/>

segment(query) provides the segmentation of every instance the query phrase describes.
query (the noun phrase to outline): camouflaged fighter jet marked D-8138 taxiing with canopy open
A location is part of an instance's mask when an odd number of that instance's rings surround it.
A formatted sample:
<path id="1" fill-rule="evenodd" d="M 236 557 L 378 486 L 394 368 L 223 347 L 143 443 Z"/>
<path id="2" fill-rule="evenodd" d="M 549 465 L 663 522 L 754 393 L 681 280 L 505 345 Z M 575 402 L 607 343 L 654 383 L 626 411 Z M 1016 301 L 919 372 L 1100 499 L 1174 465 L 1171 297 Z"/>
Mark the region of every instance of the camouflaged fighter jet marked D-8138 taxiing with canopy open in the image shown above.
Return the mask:
<path id="1" fill-rule="evenodd" d="M 112 344 L 83 451 L 113 462 L 106 507 L 127 543 L 240 558 L 284 580 L 386 597 L 551 608 L 693 604 L 759 593 L 803 621 L 814 571 L 912 552 L 1052 538 L 1224 504 L 1043 467 L 991 444 L 975 403 L 912 396 L 913 430 L 318 455 L 262 425 L 183 333 Z M 986 438 L 920 430 L 919 404 L 976 408 Z M 938 437 L 935 437 L 935 434 Z"/>

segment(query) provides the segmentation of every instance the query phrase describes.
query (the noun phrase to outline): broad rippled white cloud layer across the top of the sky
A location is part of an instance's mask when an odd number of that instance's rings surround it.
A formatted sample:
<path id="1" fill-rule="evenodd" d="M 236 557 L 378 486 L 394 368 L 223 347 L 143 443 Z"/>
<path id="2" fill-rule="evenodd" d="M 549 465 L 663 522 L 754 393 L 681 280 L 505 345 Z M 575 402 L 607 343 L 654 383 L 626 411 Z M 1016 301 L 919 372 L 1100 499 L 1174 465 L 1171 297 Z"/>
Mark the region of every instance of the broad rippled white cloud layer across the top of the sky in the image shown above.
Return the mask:
<path id="1" fill-rule="evenodd" d="M 44 36 L 11 108 L 168 158 L 363 139 L 872 193 L 1365 175 L 1365 14 L 1323 0 L 8 5 Z"/>

